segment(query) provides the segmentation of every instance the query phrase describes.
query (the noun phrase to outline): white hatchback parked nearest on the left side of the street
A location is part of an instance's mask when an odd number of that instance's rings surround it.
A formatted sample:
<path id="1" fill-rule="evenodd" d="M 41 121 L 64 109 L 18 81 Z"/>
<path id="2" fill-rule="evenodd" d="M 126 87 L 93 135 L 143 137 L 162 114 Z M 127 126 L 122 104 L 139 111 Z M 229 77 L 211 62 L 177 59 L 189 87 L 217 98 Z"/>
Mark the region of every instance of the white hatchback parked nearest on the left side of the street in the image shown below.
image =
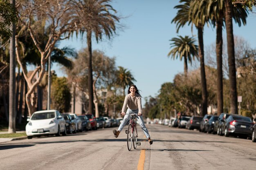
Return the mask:
<path id="1" fill-rule="evenodd" d="M 26 125 L 28 139 L 36 135 L 67 135 L 66 122 L 58 110 L 41 110 L 32 114 Z"/>

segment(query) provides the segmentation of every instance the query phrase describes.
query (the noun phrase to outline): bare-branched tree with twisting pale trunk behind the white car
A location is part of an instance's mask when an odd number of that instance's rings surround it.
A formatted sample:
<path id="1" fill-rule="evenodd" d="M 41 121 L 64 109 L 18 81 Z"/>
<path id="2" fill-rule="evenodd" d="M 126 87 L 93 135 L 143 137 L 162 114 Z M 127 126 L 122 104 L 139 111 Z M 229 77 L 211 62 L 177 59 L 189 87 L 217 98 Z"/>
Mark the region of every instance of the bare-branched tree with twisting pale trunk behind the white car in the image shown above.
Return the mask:
<path id="1" fill-rule="evenodd" d="M 29 34 L 40 53 L 40 65 L 37 66 L 30 76 L 25 72 L 19 55 L 19 46 L 16 43 L 16 55 L 18 63 L 24 73 L 25 80 L 29 87 L 26 93 L 26 103 L 29 115 L 35 111 L 36 96 L 34 91 L 41 82 L 45 74 L 45 64 L 50 57 L 54 45 L 58 40 L 69 38 L 72 31 L 76 28 L 75 11 L 72 4 L 73 0 L 21 0 L 18 6 L 19 23 L 27 28 Z M 41 23 L 46 23 L 49 27 L 48 40 L 43 45 L 40 37 L 37 37 L 36 29 Z M 16 36 L 16 42 L 18 37 Z M 38 78 L 34 81 L 34 76 L 38 72 Z"/>

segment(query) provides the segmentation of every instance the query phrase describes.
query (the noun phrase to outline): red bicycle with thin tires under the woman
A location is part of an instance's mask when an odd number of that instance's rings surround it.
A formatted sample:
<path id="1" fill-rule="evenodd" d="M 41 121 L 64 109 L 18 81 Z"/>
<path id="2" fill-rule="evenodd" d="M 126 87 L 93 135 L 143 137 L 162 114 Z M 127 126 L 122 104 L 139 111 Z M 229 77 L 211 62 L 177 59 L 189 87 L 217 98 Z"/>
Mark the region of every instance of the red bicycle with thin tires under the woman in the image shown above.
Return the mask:
<path id="1" fill-rule="evenodd" d="M 138 142 L 138 133 L 137 133 L 137 125 L 135 122 L 135 115 L 134 113 L 131 114 L 130 120 L 129 120 L 129 126 L 128 130 L 126 130 L 127 134 L 127 146 L 128 150 L 130 151 L 132 149 L 132 143 L 133 143 L 133 148 L 136 149 L 137 146 L 140 146 L 141 143 Z"/>

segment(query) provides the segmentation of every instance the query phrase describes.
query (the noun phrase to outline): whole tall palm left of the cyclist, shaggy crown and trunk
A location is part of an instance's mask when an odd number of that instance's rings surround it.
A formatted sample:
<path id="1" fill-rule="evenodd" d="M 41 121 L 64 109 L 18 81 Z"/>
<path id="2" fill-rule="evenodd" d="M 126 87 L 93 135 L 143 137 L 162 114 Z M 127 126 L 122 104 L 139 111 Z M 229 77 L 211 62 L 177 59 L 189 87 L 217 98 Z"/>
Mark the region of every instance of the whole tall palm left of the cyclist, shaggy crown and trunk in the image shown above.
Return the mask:
<path id="1" fill-rule="evenodd" d="M 109 4 L 111 0 L 83 0 L 76 3 L 77 23 L 79 30 L 86 32 L 88 46 L 88 89 L 89 89 L 89 113 L 93 113 L 93 78 L 92 78 L 92 35 L 98 42 L 106 35 L 109 39 L 115 33 L 115 22 L 119 18 L 112 14 L 113 7 Z"/>

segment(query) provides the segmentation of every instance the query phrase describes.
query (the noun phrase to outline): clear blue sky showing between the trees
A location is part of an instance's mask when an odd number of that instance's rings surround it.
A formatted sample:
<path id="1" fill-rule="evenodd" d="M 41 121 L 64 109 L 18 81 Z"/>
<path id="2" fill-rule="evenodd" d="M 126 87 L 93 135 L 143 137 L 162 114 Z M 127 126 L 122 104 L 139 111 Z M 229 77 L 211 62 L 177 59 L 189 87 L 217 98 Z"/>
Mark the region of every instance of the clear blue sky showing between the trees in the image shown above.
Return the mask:
<path id="1" fill-rule="evenodd" d="M 192 35 L 190 26 L 181 28 L 177 34 L 175 24 L 171 24 L 177 12 L 173 7 L 177 4 L 178 0 L 115 0 L 112 7 L 118 11 L 118 15 L 126 17 L 120 20 L 126 28 L 124 31 L 118 31 L 118 35 L 111 41 L 104 39 L 97 44 L 93 40 L 92 49 L 99 49 L 109 57 L 116 57 L 117 66 L 131 71 L 143 97 L 155 97 L 161 84 L 172 82 L 175 74 L 183 72 L 182 61 L 167 57 L 171 38 L 177 35 Z M 238 27 L 234 22 L 233 25 L 234 35 L 243 37 L 255 48 L 256 14 L 249 15 L 246 26 Z M 197 35 L 195 29 L 193 34 Z M 215 29 L 205 26 L 204 47 L 214 43 L 215 39 Z M 223 39 L 226 39 L 225 31 Z M 59 47 L 63 46 L 70 46 L 79 51 L 86 47 L 86 40 L 64 40 Z M 58 76 L 65 76 L 59 66 L 54 65 L 53 69 Z M 144 103 L 143 100 L 143 105 Z"/>

